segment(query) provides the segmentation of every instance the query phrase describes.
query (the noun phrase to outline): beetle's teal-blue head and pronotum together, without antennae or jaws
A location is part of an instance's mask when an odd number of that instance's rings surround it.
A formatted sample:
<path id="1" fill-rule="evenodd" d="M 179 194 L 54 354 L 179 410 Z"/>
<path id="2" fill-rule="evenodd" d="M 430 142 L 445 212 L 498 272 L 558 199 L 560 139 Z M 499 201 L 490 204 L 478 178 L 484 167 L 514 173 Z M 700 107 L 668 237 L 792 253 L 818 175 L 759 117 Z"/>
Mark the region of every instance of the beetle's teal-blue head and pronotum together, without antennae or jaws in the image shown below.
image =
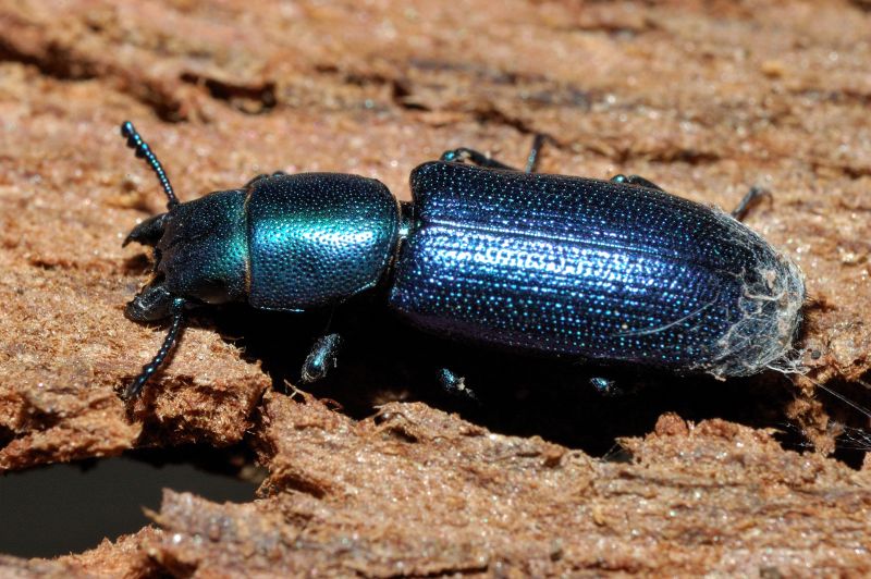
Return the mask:
<path id="1" fill-rule="evenodd" d="M 343 301 L 382 279 L 400 209 L 378 181 L 304 173 L 181 204 L 161 223 L 157 272 L 169 294 L 303 310 Z"/>

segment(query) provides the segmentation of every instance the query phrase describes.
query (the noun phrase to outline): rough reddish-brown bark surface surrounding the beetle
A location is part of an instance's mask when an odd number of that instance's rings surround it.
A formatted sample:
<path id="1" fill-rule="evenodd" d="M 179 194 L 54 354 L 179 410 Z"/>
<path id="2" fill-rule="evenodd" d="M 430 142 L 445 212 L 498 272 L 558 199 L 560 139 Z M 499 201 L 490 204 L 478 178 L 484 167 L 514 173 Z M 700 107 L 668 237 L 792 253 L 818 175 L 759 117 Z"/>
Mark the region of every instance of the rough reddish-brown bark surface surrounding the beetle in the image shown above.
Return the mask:
<path id="1" fill-rule="evenodd" d="M 270 472 L 252 504 L 167 491 L 154 528 L 0 574 L 871 572 L 871 461 L 785 449 L 764 420 L 622 418 L 641 435 L 616 463 L 422 404 L 352 418 L 275 391 L 277 357 L 207 316 L 133 408 L 118 397 L 163 333 L 123 317 L 148 261 L 121 241 L 162 200 L 121 121 L 183 200 L 278 169 L 407 198 L 446 148 L 520 164 L 543 133 L 545 172 L 638 173 L 726 208 L 772 190 L 748 224 L 810 300 L 808 375 L 768 404 L 830 452 L 841 422 L 868 427 L 813 384 L 869 406 L 869 30 L 867 2 L 835 0 L 0 0 L 0 470 L 244 440 Z M 377 374 L 345 381 L 377 398 Z M 786 392 L 748 387 L 771 384 Z"/>

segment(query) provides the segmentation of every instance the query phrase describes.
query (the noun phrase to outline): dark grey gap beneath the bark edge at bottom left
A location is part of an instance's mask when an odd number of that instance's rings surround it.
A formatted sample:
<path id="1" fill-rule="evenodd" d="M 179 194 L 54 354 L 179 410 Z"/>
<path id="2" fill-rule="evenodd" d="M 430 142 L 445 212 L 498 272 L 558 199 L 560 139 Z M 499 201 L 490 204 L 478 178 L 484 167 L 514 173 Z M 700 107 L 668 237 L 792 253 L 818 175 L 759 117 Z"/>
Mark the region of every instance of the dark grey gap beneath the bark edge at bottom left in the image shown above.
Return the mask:
<path id="1" fill-rule="evenodd" d="M 136 451 L 0 475 L 0 553 L 52 557 L 96 547 L 151 522 L 162 489 L 247 503 L 261 480 L 242 446 Z"/>

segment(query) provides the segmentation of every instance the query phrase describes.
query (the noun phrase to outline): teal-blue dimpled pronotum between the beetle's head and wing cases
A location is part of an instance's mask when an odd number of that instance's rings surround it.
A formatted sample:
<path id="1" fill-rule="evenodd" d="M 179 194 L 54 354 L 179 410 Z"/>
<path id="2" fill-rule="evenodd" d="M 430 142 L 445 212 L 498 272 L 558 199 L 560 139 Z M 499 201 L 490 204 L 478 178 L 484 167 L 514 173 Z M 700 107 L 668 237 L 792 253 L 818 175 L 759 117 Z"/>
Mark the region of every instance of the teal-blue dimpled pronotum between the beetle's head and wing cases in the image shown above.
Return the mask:
<path id="1" fill-rule="evenodd" d="M 378 181 L 278 175 L 255 182 L 246 205 L 255 308 L 341 303 L 376 285 L 393 257 L 400 207 Z"/>

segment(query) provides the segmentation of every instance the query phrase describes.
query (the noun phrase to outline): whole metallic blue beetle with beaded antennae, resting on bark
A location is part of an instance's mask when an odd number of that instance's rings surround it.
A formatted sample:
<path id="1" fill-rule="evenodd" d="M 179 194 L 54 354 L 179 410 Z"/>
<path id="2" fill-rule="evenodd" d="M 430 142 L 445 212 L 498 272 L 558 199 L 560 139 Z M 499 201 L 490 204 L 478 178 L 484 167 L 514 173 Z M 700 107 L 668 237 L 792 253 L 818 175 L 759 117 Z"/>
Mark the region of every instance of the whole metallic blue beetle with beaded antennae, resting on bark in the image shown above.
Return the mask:
<path id="1" fill-rule="evenodd" d="M 171 320 L 127 399 L 177 341 L 185 310 L 203 305 L 304 311 L 382 291 L 401 318 L 451 340 L 720 379 L 783 359 L 801 323 L 801 271 L 739 222 L 761 189 L 727 214 L 637 175 L 536 173 L 537 137 L 524 171 L 469 148 L 420 164 L 410 202 L 357 175 L 274 173 L 182 204 L 133 124 L 121 133 L 168 198 L 124 241 L 155 248 L 154 275 L 125 313 Z M 318 338 L 303 380 L 322 378 L 340 344 Z"/>

